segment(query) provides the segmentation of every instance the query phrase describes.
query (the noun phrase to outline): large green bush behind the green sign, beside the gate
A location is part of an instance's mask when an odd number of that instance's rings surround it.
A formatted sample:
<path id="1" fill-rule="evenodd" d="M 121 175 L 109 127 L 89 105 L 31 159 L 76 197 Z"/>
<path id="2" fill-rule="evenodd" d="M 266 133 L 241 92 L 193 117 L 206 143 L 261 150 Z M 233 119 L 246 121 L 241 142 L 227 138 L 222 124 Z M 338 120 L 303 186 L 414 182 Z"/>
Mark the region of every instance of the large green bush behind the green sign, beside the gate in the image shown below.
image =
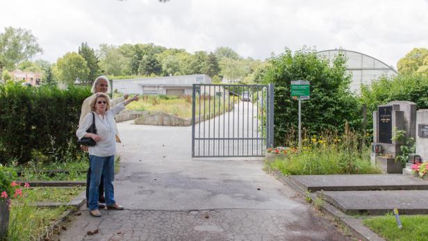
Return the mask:
<path id="1" fill-rule="evenodd" d="M 345 56 L 338 55 L 330 65 L 328 60 L 318 58 L 315 50 L 304 48 L 293 55 L 286 49 L 279 56 L 272 56 L 269 63 L 263 82 L 275 85 L 275 143 L 288 146 L 286 135 L 298 128 L 298 101 L 290 97 L 291 81 L 311 82 L 311 99 L 302 102 L 302 127 L 308 133 L 343 133 L 345 122 L 351 128 L 361 128 L 361 106 L 349 92 L 351 78 L 346 72 Z"/>

